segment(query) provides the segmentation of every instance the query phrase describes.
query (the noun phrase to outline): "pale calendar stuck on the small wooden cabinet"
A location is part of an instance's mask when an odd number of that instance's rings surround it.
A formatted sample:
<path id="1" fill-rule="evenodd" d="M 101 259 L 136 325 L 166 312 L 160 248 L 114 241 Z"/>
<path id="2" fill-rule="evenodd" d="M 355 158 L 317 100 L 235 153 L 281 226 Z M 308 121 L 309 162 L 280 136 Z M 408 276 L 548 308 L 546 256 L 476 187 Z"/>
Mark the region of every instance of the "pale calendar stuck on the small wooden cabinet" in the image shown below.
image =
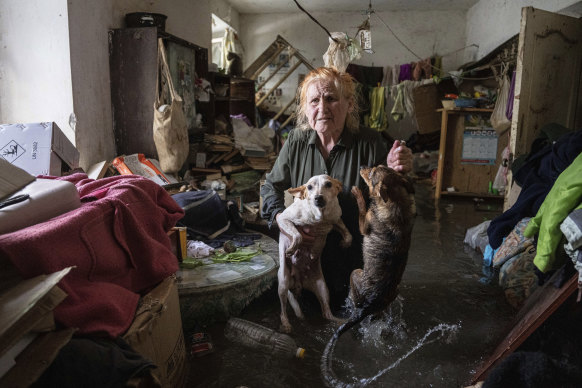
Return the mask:
<path id="1" fill-rule="evenodd" d="M 494 165 L 498 140 L 497 132 L 491 127 L 465 126 L 461 164 Z"/>

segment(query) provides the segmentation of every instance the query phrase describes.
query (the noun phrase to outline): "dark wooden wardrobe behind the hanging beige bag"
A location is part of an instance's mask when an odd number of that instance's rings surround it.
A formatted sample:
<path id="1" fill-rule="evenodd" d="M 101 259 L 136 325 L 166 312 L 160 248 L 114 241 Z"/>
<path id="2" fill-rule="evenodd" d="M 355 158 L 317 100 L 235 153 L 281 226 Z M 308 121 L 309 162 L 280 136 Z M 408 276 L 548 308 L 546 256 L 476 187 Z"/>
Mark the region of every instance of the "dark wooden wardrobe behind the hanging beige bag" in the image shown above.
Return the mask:
<path id="1" fill-rule="evenodd" d="M 208 50 L 156 27 L 109 32 L 111 103 L 117 154 L 143 153 L 157 159 L 153 141 L 153 109 L 158 74 L 158 38 L 162 38 L 174 85 L 184 100 L 189 132 L 205 130 L 214 117 L 205 116 L 195 98 L 196 76 L 208 77 Z M 196 114 L 202 113 L 202 127 Z"/>

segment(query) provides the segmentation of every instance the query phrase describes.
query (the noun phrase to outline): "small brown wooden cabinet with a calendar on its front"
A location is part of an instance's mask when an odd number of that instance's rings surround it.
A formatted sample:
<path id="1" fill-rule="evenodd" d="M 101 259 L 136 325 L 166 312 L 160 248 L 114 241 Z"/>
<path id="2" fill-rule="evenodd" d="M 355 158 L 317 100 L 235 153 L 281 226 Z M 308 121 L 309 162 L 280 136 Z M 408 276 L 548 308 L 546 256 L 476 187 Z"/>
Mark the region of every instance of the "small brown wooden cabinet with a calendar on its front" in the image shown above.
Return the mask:
<path id="1" fill-rule="evenodd" d="M 507 133 L 497 138 L 495 164 L 471 164 L 463 161 L 463 145 L 466 144 L 466 115 L 482 115 L 488 119 L 492 109 L 464 108 L 437 109 L 441 112 L 441 138 L 437 168 L 435 198 L 442 195 L 479 196 L 503 198 L 488 192 L 501 161 L 501 153 L 507 146 Z M 454 187 L 454 191 L 447 188 Z"/>

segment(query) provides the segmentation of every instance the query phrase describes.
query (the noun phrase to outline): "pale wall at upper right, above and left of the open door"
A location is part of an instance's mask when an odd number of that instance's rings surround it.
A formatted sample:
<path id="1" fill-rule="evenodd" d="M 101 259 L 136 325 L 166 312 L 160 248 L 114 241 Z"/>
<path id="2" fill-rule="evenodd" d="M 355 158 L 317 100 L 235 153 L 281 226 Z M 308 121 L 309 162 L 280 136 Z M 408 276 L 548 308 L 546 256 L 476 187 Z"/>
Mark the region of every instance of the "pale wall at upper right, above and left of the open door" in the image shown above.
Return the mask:
<path id="1" fill-rule="evenodd" d="M 521 8 L 531 6 L 559 12 L 575 3 L 580 1 L 480 0 L 467 12 L 467 44 L 479 45 L 476 59 L 481 59 L 515 34 L 519 34 Z"/>

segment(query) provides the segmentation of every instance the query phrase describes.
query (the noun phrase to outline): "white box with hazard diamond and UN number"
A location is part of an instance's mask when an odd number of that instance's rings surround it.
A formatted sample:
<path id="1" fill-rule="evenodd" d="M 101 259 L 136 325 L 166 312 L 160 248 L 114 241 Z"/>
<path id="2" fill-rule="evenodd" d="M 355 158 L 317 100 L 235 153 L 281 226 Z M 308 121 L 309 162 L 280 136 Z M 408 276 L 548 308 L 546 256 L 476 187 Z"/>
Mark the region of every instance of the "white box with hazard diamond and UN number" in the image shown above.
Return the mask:
<path id="1" fill-rule="evenodd" d="M 32 175 L 61 176 L 79 166 L 79 151 L 49 122 L 0 125 L 0 157 Z"/>

